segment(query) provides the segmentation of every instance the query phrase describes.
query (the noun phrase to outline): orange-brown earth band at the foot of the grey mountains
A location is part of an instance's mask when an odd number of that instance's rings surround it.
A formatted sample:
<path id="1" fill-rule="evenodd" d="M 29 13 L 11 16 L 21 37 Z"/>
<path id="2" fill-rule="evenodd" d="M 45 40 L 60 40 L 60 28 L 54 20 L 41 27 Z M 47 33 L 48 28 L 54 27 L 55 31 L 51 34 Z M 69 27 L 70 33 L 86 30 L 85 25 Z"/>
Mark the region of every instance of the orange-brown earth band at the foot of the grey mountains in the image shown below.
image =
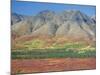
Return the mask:
<path id="1" fill-rule="evenodd" d="M 47 47 L 50 47 L 52 46 L 54 43 L 58 44 L 58 45 L 62 45 L 65 44 L 65 43 L 75 43 L 75 42 L 81 42 L 82 44 L 84 45 L 87 45 L 87 46 L 94 46 L 95 44 L 95 41 L 92 41 L 92 40 L 86 40 L 86 39 L 83 39 L 83 38 L 78 38 L 78 39 L 75 39 L 75 38 L 66 38 L 66 37 L 48 37 L 48 36 L 32 36 L 32 35 L 25 35 L 25 36 L 22 36 L 22 37 L 17 37 L 16 39 L 12 39 L 12 44 L 11 44 L 11 48 L 12 50 L 16 50 L 16 49 L 25 49 L 25 45 L 24 43 L 25 42 L 29 42 L 29 41 L 32 41 L 32 40 L 40 40 L 40 41 L 43 41 L 45 42 L 43 48 L 47 48 Z"/>

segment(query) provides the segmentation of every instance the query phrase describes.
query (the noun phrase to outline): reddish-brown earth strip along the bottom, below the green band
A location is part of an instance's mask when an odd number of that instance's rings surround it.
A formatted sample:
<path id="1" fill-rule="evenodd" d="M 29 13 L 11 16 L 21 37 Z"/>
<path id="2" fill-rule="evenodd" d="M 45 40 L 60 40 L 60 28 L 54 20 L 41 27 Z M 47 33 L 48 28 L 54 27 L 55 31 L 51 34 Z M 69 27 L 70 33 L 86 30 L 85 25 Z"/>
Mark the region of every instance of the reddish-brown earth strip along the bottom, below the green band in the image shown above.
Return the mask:
<path id="1" fill-rule="evenodd" d="M 96 68 L 95 58 L 16 59 L 12 60 L 12 74 L 51 71 L 90 70 Z"/>

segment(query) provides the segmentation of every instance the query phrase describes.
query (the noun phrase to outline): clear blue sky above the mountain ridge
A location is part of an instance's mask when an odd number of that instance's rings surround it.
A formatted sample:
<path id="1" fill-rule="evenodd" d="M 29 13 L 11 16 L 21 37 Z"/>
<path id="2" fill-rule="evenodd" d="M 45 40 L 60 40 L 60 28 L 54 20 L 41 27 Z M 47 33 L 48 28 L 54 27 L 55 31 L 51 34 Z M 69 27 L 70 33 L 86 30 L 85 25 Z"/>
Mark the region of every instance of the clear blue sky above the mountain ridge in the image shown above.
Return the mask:
<path id="1" fill-rule="evenodd" d="M 57 3 L 40 3 L 40 2 L 25 2 L 12 0 L 12 13 L 22 15 L 36 15 L 43 10 L 51 10 L 56 13 L 64 10 L 79 10 L 88 16 L 96 14 L 96 7 L 90 5 L 73 5 L 73 4 L 57 4 Z"/>

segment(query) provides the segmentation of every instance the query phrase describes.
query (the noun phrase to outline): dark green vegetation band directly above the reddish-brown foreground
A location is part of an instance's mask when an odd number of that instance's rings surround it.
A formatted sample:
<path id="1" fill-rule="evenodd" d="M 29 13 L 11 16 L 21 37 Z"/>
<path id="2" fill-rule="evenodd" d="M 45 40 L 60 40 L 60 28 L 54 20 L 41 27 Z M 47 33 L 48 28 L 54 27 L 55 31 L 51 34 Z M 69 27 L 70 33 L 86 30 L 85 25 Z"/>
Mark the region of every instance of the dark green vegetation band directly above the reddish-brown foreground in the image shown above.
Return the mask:
<path id="1" fill-rule="evenodd" d="M 44 59 L 44 58 L 85 58 L 95 57 L 95 50 L 77 51 L 67 49 L 14 50 L 12 59 Z"/>

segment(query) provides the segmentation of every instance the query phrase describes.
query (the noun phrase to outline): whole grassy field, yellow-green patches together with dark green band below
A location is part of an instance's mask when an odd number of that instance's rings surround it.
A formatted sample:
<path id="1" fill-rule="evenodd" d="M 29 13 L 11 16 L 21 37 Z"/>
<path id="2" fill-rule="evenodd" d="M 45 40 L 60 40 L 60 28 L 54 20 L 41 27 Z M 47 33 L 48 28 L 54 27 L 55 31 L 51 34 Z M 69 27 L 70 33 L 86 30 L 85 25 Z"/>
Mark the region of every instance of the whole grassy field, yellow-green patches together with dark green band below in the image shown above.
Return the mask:
<path id="1" fill-rule="evenodd" d="M 12 59 L 43 59 L 43 58 L 85 58 L 95 57 L 96 50 L 93 46 L 84 43 L 52 43 L 48 47 L 46 42 L 41 40 L 20 43 L 22 49 L 12 50 Z"/>

